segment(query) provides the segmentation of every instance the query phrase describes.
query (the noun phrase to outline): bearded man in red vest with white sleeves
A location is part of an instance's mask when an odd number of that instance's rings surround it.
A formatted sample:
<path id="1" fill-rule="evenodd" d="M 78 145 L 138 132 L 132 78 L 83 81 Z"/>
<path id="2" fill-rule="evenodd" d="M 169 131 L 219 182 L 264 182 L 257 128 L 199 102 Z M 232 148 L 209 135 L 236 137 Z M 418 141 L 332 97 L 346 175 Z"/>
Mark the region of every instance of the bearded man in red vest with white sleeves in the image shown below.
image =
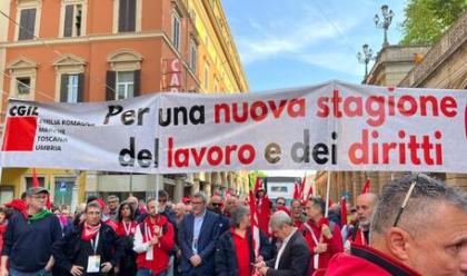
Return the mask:
<path id="1" fill-rule="evenodd" d="M 137 226 L 133 250 L 138 253 L 138 276 L 166 276 L 170 253 L 175 245 L 175 230 L 169 219 L 159 214 L 159 203 L 149 199 L 148 216 Z"/>

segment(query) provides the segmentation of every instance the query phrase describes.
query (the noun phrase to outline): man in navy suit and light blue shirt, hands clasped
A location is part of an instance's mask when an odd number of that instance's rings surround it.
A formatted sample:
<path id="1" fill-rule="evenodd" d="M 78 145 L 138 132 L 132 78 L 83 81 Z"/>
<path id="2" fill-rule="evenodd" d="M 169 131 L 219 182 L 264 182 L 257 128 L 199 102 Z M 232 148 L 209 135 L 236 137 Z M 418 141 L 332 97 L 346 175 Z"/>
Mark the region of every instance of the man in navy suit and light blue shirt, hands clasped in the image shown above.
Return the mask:
<path id="1" fill-rule="evenodd" d="M 220 219 L 218 215 L 206 209 L 205 194 L 195 194 L 191 204 L 192 214 L 185 216 L 178 233 L 181 273 L 186 276 L 215 275 L 213 254 L 220 233 Z"/>

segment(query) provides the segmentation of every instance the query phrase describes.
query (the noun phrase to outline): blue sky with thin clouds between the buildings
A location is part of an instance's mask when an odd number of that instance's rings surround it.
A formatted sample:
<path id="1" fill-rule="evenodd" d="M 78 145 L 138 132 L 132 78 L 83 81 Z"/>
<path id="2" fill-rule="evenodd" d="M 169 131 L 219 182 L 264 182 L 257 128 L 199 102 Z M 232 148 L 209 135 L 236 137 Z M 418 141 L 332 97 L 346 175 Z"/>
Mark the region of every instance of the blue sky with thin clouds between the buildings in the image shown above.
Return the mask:
<path id="1" fill-rule="evenodd" d="M 360 83 L 357 52 L 364 43 L 381 49 L 384 32 L 372 19 L 382 4 L 396 13 L 388 40 L 398 43 L 404 0 L 222 0 L 252 92 L 331 79 Z"/>

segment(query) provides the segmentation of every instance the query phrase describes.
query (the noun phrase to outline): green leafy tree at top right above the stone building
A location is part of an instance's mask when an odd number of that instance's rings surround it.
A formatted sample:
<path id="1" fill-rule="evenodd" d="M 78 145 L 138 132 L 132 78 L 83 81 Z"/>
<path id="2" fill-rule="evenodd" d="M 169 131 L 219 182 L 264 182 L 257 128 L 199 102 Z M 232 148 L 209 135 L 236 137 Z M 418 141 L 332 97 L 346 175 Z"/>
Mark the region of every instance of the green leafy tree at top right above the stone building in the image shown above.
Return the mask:
<path id="1" fill-rule="evenodd" d="M 409 0 L 401 45 L 430 45 L 467 10 L 467 0 Z"/>

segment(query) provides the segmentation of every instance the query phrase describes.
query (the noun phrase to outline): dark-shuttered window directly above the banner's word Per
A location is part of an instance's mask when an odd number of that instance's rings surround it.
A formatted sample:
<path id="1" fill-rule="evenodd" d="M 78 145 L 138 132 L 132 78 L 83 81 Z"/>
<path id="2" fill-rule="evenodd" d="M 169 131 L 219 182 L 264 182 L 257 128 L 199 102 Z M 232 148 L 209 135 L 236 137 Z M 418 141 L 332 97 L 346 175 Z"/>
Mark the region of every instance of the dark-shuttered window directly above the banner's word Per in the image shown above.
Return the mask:
<path id="1" fill-rule="evenodd" d="M 139 96 L 140 71 L 108 71 L 107 100 L 122 100 Z"/>

